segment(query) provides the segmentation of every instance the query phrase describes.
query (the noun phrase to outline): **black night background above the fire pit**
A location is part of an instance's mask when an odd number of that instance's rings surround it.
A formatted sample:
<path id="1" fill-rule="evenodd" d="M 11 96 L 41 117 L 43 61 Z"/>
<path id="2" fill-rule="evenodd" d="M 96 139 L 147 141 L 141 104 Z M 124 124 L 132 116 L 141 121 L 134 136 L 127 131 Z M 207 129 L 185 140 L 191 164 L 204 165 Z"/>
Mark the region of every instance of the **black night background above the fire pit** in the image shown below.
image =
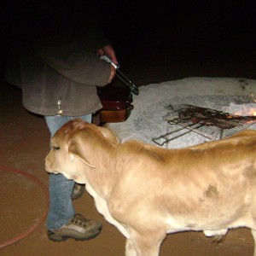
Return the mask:
<path id="1" fill-rule="evenodd" d="M 29 7 L 31 2 L 1 3 L 2 67 L 8 51 L 9 26 L 20 7 Z M 137 79 L 140 76 L 135 71 L 143 69 L 145 76 L 147 67 L 148 73 L 154 67 L 161 69 L 160 75 L 165 68 L 163 79 L 256 77 L 254 1 L 98 0 L 97 4 L 99 21 L 113 42 L 122 70 Z"/>

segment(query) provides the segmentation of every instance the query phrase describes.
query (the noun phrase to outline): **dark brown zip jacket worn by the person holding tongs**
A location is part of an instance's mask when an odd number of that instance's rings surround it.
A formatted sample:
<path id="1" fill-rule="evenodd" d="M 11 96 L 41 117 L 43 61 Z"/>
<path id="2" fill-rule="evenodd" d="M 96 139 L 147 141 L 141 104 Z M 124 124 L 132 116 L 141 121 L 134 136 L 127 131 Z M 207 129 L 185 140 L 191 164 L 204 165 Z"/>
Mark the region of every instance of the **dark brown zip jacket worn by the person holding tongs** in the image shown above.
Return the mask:
<path id="1" fill-rule="evenodd" d="M 59 3 L 61 3 L 59 5 Z M 42 115 L 79 116 L 102 108 L 96 86 L 108 84 L 110 65 L 96 51 L 109 42 L 90 1 L 49 1 L 29 9 L 12 40 L 6 79 L 22 89 L 24 107 Z"/>

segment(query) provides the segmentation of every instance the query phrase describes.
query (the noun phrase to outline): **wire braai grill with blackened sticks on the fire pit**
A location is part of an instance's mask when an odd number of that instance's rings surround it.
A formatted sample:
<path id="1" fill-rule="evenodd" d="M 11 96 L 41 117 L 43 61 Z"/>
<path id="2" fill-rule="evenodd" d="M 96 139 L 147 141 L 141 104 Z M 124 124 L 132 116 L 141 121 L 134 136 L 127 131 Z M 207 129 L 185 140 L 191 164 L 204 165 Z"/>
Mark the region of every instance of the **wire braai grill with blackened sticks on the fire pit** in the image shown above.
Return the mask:
<path id="1" fill-rule="evenodd" d="M 166 109 L 170 111 L 164 117 L 167 123 L 166 134 L 152 138 L 160 146 L 189 132 L 195 132 L 210 140 L 230 137 L 256 121 L 256 116 L 234 115 L 187 104 L 169 105 Z"/>

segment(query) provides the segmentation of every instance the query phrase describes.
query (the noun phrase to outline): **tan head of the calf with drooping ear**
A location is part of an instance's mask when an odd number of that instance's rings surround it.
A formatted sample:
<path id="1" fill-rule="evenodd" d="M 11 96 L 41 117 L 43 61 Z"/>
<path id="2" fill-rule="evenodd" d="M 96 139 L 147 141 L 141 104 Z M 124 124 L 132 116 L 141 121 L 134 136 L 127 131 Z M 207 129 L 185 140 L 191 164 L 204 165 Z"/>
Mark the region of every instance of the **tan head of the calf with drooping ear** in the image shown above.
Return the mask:
<path id="1" fill-rule="evenodd" d="M 98 149 L 102 144 L 118 143 L 118 138 L 107 128 L 73 119 L 51 138 L 45 169 L 49 173 L 62 173 L 77 183 L 85 183 L 84 168 L 96 168 L 96 157 L 92 157 L 95 151 L 100 152 Z"/>

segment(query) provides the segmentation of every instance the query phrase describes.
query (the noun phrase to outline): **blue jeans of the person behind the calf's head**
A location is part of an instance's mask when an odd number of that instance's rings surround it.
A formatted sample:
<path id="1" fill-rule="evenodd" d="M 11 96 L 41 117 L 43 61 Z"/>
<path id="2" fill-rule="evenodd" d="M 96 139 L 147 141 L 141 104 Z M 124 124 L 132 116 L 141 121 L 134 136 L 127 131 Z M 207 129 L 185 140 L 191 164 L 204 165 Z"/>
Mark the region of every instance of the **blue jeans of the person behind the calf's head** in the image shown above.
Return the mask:
<path id="1" fill-rule="evenodd" d="M 45 116 L 44 118 L 50 135 L 53 137 L 62 125 L 77 117 Z M 91 123 L 91 114 L 79 116 L 79 118 Z M 75 214 L 71 200 L 73 185 L 74 181 L 67 179 L 62 174 L 49 175 L 49 212 L 47 217 L 47 227 L 49 230 L 60 229 Z"/>

